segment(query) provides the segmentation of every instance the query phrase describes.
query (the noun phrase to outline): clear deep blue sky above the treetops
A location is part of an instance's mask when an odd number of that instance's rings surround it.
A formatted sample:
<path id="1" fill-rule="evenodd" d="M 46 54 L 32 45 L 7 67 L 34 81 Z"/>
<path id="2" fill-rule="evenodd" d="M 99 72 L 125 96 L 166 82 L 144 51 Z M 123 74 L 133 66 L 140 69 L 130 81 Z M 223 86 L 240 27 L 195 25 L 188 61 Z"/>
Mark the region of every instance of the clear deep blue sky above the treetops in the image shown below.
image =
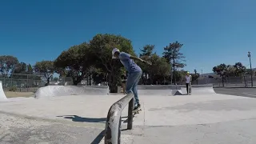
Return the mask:
<path id="1" fill-rule="evenodd" d="M 34 64 L 95 34 L 122 34 L 138 54 L 146 44 L 162 54 L 184 44 L 185 70 L 212 72 L 220 63 L 256 67 L 254 0 L 8 0 L 0 2 L 0 54 Z"/>

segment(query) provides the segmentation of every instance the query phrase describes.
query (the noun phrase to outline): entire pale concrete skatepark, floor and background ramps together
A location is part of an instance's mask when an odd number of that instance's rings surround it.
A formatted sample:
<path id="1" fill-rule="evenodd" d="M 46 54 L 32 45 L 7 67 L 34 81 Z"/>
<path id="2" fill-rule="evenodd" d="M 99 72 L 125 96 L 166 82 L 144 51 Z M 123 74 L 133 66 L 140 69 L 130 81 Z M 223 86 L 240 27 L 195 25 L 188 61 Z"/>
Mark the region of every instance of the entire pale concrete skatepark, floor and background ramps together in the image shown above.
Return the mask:
<path id="1" fill-rule="evenodd" d="M 35 98 L 18 100 L 0 91 L 0 143 L 104 143 L 106 114 L 125 95 L 104 86 L 72 87 L 46 86 Z M 127 106 L 123 110 L 121 143 L 256 142 L 255 98 L 216 94 L 210 85 L 192 86 L 186 95 L 184 88 L 138 86 L 142 112 L 126 130 Z"/>

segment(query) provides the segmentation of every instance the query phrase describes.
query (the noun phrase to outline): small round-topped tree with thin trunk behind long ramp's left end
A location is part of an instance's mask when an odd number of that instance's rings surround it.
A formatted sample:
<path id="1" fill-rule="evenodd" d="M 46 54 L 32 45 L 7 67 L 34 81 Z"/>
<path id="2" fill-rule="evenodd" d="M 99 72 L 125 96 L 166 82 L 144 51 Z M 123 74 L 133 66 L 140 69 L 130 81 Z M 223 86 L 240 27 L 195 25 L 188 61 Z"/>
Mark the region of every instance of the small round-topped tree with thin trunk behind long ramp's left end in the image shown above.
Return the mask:
<path id="1" fill-rule="evenodd" d="M 52 61 L 41 61 L 36 62 L 34 65 L 34 71 L 36 74 L 42 74 L 47 80 L 46 85 L 49 85 L 50 78 L 54 74 L 54 62 Z"/>

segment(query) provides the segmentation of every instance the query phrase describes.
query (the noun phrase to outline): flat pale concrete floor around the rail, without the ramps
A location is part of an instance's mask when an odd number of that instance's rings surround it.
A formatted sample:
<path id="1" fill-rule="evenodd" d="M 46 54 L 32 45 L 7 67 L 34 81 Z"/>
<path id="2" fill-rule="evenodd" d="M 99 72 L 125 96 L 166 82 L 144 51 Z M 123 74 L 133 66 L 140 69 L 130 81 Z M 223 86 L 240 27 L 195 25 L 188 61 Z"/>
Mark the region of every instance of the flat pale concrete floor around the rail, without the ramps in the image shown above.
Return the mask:
<path id="1" fill-rule="evenodd" d="M 88 141 L 82 142 L 81 134 L 88 133 L 90 136 L 87 139 L 90 142 L 93 142 L 95 138 L 101 139 L 102 136 L 99 135 L 105 128 L 106 114 L 110 106 L 123 96 L 23 98 L 15 102 L 1 102 L 0 111 L 4 114 L 26 115 L 36 118 L 34 121 L 38 122 L 35 122 L 37 126 L 43 125 L 40 122 L 47 122 L 49 127 L 54 127 L 50 125 L 57 122 L 58 125 L 61 125 L 59 129 L 65 131 L 66 135 L 69 135 L 66 126 L 80 127 L 81 133 L 79 131 L 74 132 L 72 138 L 74 142 L 87 143 Z M 253 144 L 256 142 L 256 133 L 254 132 L 256 130 L 254 125 L 256 122 L 255 98 L 210 94 L 169 97 L 142 96 L 140 99 L 142 112 L 134 118 L 134 130 L 122 131 L 122 143 Z M 127 107 L 122 114 L 123 129 L 126 128 L 126 116 Z M 1 119 L 2 126 L 8 124 L 7 119 Z M 15 121 L 19 122 L 20 120 L 18 118 L 14 120 L 13 128 L 16 124 Z M 55 125 L 57 126 L 56 129 L 58 125 Z M 8 131 L 7 128 L 2 130 L 0 134 L 6 135 L 6 131 Z M 51 133 L 49 132 L 49 134 Z M 9 140 L 14 137 L 12 134 L 14 133 L 10 132 Z M 27 136 L 30 135 L 30 133 L 26 134 Z M 0 142 L 12 143 L 5 138 L 0 138 Z M 26 142 L 33 143 L 27 138 Z M 59 141 L 51 138 L 44 141 L 43 138 L 39 138 L 38 142 L 72 143 L 65 138 Z"/>

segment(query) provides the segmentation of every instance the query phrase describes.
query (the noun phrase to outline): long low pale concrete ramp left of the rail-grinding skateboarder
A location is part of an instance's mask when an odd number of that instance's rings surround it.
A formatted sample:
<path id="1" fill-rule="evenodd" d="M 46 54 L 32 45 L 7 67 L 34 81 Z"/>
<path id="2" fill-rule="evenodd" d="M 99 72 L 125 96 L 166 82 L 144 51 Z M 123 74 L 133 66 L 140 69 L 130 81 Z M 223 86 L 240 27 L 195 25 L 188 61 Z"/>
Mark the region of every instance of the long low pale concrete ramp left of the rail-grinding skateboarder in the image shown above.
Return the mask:
<path id="1" fill-rule="evenodd" d="M 35 98 L 107 94 L 109 94 L 109 86 L 44 86 L 36 91 Z"/>

